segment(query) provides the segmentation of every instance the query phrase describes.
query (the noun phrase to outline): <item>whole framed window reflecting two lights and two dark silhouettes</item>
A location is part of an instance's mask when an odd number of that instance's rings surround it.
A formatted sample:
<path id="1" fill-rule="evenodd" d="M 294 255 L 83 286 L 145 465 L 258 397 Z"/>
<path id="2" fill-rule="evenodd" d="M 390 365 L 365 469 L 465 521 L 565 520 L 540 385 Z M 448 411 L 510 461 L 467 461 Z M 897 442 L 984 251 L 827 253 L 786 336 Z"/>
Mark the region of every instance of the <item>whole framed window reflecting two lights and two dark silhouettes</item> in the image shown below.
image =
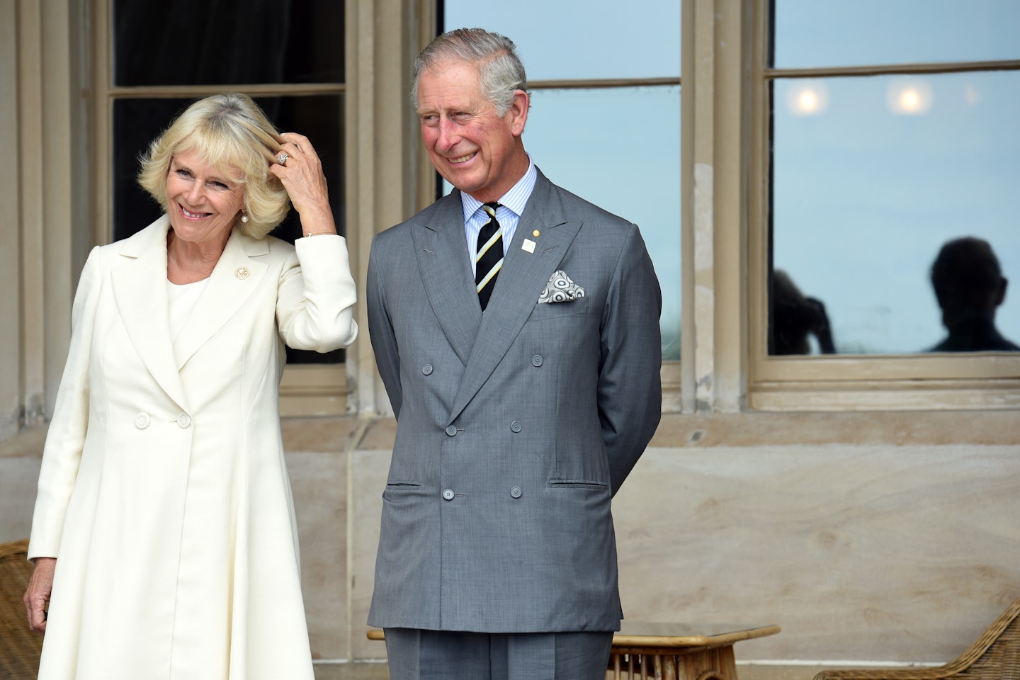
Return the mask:
<path id="1" fill-rule="evenodd" d="M 931 268 L 944 245 L 974 237 L 1020 279 L 1020 5 L 763 4 L 750 404 L 1015 406 L 1020 354 L 931 352 L 952 345 Z M 961 262 L 954 290 L 976 276 Z M 831 332 L 805 345 L 826 325 L 813 299 Z M 998 332 L 1020 343 L 1020 295 L 996 312 Z"/>

